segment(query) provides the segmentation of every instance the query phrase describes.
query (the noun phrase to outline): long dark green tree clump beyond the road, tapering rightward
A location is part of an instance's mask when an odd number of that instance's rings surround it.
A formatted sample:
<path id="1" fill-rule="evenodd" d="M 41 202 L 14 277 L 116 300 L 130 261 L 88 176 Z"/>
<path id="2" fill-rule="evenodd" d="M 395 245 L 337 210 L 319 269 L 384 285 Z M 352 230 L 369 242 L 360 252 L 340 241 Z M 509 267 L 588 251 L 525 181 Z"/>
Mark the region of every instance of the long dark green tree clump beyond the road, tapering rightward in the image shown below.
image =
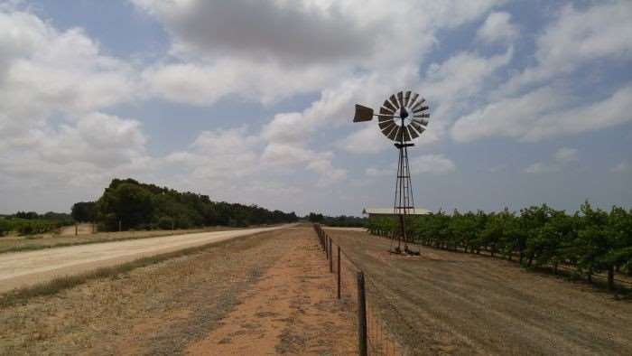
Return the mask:
<path id="1" fill-rule="evenodd" d="M 114 179 L 97 201 L 72 207 L 74 220 L 97 222 L 99 230 L 190 229 L 204 226 L 245 227 L 293 222 L 294 212 L 269 211 L 257 205 L 211 201 L 208 195 L 178 192 L 133 179 Z"/>

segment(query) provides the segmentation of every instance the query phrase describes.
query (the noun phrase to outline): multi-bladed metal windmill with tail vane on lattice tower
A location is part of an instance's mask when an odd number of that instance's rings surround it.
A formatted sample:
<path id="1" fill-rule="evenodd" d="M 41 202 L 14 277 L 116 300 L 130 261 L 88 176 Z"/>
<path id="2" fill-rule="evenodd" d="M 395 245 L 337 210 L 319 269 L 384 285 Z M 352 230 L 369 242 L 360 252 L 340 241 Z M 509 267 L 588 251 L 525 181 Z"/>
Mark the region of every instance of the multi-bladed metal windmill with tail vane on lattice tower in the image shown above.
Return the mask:
<path id="1" fill-rule="evenodd" d="M 382 134 L 395 142 L 399 151 L 397 164 L 397 179 L 395 181 L 395 202 L 393 213 L 397 216 L 398 229 L 393 239 L 397 240 L 397 247 L 391 249 L 395 253 L 418 255 L 419 251 L 408 248 L 410 240 L 406 236 L 406 216 L 414 213 L 413 183 L 408 164 L 408 147 L 414 146 L 413 140 L 425 131 L 428 126 L 428 106 L 425 99 L 410 90 L 400 91 L 384 100 L 379 114 L 374 114 L 373 108 L 356 104 L 356 115 L 353 122 L 371 121 L 378 117 L 377 125 Z M 402 250 L 404 245 L 404 250 Z"/>

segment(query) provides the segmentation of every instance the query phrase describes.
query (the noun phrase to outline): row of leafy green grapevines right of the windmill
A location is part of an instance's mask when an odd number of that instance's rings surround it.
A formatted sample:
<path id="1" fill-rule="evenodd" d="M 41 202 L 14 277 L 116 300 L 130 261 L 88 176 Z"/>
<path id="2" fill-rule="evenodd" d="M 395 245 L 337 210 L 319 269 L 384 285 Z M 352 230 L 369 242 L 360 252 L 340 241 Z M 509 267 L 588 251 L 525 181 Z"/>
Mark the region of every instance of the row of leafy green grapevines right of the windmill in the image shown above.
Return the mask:
<path id="1" fill-rule="evenodd" d="M 376 235 L 392 236 L 393 219 L 377 218 L 368 223 Z M 592 282 L 596 273 L 608 274 L 614 286 L 616 272 L 632 276 L 632 210 L 613 207 L 602 211 L 581 204 L 579 211 L 567 214 L 546 204 L 499 212 L 443 211 L 410 217 L 407 235 L 414 242 L 449 250 L 516 259 L 525 267 L 574 267 L 576 273 Z"/>

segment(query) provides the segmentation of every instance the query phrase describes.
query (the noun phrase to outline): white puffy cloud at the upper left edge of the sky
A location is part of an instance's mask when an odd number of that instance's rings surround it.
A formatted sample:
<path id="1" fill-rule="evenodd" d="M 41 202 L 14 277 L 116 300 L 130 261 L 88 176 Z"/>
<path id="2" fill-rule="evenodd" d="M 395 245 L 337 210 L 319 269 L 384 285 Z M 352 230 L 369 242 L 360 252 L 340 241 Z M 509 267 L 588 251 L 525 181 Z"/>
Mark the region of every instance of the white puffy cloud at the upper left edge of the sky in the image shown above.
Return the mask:
<path id="1" fill-rule="evenodd" d="M 7 117 L 82 114 L 135 92 L 128 64 L 102 54 L 82 30 L 59 32 L 33 14 L 0 12 L 0 53 L 0 114 Z"/>

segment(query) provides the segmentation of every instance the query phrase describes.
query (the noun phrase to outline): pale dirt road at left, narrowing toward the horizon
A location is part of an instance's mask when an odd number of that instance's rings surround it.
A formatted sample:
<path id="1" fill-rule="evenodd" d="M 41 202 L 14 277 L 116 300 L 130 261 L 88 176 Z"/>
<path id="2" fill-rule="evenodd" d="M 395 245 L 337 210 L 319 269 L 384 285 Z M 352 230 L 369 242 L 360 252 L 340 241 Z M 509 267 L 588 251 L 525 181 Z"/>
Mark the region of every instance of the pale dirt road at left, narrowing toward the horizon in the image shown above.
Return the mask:
<path id="1" fill-rule="evenodd" d="M 278 230 L 283 227 L 286 226 L 203 232 L 1 254 L 0 293 L 20 286 L 42 283 L 56 276 L 75 275 L 98 267 L 114 266 L 137 258 L 233 239 L 257 232 Z"/>

